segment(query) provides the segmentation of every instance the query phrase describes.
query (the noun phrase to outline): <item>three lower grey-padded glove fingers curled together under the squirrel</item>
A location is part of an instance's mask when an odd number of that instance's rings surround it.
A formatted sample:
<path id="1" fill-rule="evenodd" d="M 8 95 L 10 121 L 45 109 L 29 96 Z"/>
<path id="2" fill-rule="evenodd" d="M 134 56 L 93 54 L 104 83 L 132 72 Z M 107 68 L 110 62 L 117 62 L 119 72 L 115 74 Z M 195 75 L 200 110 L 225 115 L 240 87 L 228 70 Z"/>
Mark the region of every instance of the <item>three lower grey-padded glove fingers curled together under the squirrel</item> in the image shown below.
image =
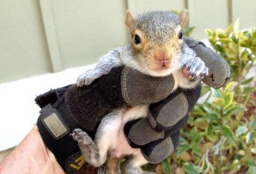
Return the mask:
<path id="1" fill-rule="evenodd" d="M 150 163 L 170 156 L 179 143 L 179 131 L 187 124 L 188 113 L 200 97 L 201 87 L 178 89 L 164 100 L 149 106 L 148 117 L 133 120 L 124 126 L 132 148 L 140 148 Z"/>

